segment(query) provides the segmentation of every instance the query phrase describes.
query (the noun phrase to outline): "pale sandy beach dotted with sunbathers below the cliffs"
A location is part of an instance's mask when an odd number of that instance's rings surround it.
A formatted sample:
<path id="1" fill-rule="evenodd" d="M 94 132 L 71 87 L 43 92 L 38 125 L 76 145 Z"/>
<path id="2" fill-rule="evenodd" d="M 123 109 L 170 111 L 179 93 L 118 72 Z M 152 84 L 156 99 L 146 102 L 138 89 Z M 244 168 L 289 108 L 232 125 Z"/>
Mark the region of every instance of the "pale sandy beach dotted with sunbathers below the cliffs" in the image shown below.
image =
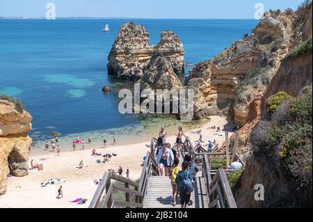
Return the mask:
<path id="1" fill-rule="evenodd" d="M 189 130 L 184 132 L 184 134 L 189 136 L 191 142 L 195 145 L 199 135 L 191 134 L 190 132 L 202 129 L 205 145 L 207 141 L 213 141 L 214 139 L 221 145 L 225 141 L 225 133 L 218 132 L 218 134 L 223 134 L 223 136 L 214 135 L 216 130 L 211 129 L 211 127 L 220 126 L 223 129 L 226 124 L 226 118 L 212 116 L 211 121 L 201 128 Z M 157 135 L 158 132 L 155 132 L 154 137 L 157 138 Z M 150 141 L 146 138 L 143 139 L 146 141 L 131 145 L 108 145 L 106 149 L 99 148 L 102 141 L 95 141 L 90 145 L 86 145 L 86 150 L 79 150 L 80 146 L 78 146 L 77 151 L 61 152 L 59 157 L 56 156 L 56 152 L 50 151 L 45 152 L 45 154 L 31 154 L 29 161 L 33 159 L 34 163 L 43 164 L 43 171 L 29 171 L 29 175 L 26 177 L 10 177 L 6 194 L 0 196 L 0 207 L 86 208 L 97 189 L 97 185 L 93 183 L 93 180 L 99 181 L 109 169 L 117 171 L 118 167 L 122 166 L 124 170 L 123 175 L 125 175 L 126 169 L 129 168 L 130 178 L 132 180 L 139 179 L 143 157 L 150 151 L 150 148 L 146 147 L 147 144 L 150 144 Z M 168 136 L 167 141 L 174 144 L 175 139 L 176 136 L 171 134 Z M 108 143 L 110 142 L 108 141 Z M 96 148 L 97 152 L 102 154 L 115 152 L 118 156 L 112 157 L 111 161 L 106 162 L 106 164 L 96 164 L 96 160 L 100 158 L 91 156 L 90 149 L 93 148 Z M 72 149 L 72 144 L 69 144 L 65 150 L 70 149 Z M 45 158 L 45 161 L 40 161 L 42 158 Z M 81 160 L 88 167 L 83 169 L 75 168 Z M 56 178 L 66 180 L 66 182 L 40 187 L 41 182 Z M 61 185 L 63 186 L 63 198 L 56 199 L 58 188 Z M 169 187 L 169 189 L 171 188 Z M 70 203 L 71 200 L 76 200 L 77 198 L 87 198 L 88 201 L 84 205 Z"/>

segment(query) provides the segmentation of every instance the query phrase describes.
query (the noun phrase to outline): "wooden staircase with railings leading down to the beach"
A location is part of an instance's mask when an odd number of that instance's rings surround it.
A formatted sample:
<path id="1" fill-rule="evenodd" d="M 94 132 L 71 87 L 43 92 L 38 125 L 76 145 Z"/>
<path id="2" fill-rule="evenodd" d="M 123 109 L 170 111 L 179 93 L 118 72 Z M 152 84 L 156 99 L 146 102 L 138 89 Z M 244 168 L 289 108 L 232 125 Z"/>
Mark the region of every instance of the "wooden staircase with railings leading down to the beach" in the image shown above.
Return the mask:
<path id="1" fill-rule="evenodd" d="M 152 138 L 151 150 L 147 152 L 141 180 L 138 183 L 113 173 L 104 173 L 89 207 L 180 208 L 179 197 L 176 206 L 171 205 L 172 185 L 170 178 L 161 177 L 159 174 L 155 158 L 157 149 L 154 145 L 155 139 Z M 212 177 L 207 153 L 195 152 L 188 138 L 183 145 L 182 156 L 184 157 L 186 153 L 191 154 L 194 161 L 202 168 L 196 177 L 192 194 L 193 205 L 190 208 L 236 208 L 225 171 L 219 169 Z M 182 158 L 179 161 L 182 164 Z M 114 183 L 116 181 L 124 185 L 117 185 Z M 113 191 L 124 192 L 125 200 L 113 200 Z"/>

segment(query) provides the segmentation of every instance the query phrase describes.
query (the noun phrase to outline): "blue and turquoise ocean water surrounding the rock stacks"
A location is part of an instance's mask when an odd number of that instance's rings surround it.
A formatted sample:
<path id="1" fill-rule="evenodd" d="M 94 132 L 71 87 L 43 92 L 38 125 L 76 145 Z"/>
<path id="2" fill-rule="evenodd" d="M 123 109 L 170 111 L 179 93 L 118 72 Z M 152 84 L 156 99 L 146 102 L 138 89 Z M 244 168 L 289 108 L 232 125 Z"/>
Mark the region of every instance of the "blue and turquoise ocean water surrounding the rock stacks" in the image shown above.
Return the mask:
<path id="1" fill-rule="evenodd" d="M 109 77 L 106 64 L 117 31 L 126 22 L 144 25 L 151 44 L 159 42 L 161 31 L 175 31 L 184 43 L 185 61 L 195 64 L 212 58 L 244 33 L 251 33 L 258 21 L 0 20 L 0 94 L 22 100 L 33 116 L 30 134 L 35 141 L 49 138 L 52 131 L 69 138 L 76 134 L 103 138 L 134 136 L 136 131 L 149 131 L 164 122 L 179 124 L 170 116 L 118 112 L 118 90 L 134 88 L 134 84 Z M 102 32 L 106 23 L 113 32 Z M 113 92 L 102 93 L 104 84 Z"/>

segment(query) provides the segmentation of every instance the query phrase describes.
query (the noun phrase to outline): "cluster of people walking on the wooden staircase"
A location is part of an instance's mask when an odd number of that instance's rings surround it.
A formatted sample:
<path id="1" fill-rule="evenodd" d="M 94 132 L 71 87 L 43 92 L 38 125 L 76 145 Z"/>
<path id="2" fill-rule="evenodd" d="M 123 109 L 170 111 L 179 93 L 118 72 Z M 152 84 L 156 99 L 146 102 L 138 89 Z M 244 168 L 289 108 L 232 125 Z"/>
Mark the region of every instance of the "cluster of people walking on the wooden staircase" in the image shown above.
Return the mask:
<path id="1" fill-rule="evenodd" d="M 182 138 L 188 138 L 184 135 L 182 127 L 178 128 L 176 134 L 176 143 L 172 147 L 166 142 L 166 129 L 161 128 L 159 138 L 157 140 L 157 164 L 159 166 L 160 175 L 169 177 L 172 184 L 172 202 L 176 205 L 179 195 L 182 208 L 193 205 L 191 196 L 195 184 L 195 176 L 199 171 L 198 166 L 193 162 L 191 155 L 186 154 L 182 165 L 179 166 L 179 157 L 182 155 Z"/>

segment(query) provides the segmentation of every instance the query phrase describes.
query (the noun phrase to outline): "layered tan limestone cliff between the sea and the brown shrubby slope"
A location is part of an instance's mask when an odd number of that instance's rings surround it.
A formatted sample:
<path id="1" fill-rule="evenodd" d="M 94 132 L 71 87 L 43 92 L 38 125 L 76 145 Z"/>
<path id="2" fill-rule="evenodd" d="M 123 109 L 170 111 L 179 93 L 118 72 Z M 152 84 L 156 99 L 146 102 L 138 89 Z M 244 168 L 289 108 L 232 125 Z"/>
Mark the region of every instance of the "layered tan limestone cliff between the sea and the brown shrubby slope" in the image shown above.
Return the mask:
<path id="1" fill-rule="evenodd" d="M 299 17 L 297 12 L 267 13 L 250 36 L 195 65 L 186 81 L 187 88 L 195 89 L 195 118 L 223 113 L 245 125 L 250 102 L 265 92 L 288 51 L 302 41 Z"/>

